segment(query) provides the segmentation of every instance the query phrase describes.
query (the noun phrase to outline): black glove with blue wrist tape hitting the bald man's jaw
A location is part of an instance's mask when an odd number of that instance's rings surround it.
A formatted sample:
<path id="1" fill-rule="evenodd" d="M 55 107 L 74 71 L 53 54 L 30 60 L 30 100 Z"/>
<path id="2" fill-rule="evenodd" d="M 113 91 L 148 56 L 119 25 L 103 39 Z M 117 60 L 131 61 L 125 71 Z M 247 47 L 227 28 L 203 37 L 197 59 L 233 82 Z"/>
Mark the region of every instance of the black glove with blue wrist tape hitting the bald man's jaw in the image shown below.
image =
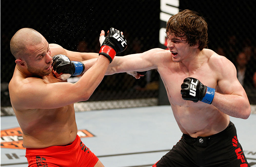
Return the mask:
<path id="1" fill-rule="evenodd" d="M 84 71 L 84 64 L 82 62 L 70 61 L 68 56 L 55 55 L 52 57 L 52 67 L 58 74 L 71 74 L 73 76 L 80 75 Z"/>

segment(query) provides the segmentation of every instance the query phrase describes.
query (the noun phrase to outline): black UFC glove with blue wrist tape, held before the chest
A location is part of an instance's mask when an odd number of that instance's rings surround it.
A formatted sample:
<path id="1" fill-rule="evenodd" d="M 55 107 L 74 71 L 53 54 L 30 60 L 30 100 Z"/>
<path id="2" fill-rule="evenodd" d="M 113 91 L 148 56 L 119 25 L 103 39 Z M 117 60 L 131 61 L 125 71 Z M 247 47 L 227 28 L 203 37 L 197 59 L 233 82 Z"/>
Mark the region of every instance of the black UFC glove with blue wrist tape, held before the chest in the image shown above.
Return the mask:
<path id="1" fill-rule="evenodd" d="M 204 86 L 198 79 L 189 77 L 183 80 L 180 93 L 184 100 L 191 100 L 193 102 L 200 100 L 211 104 L 215 89 Z"/>

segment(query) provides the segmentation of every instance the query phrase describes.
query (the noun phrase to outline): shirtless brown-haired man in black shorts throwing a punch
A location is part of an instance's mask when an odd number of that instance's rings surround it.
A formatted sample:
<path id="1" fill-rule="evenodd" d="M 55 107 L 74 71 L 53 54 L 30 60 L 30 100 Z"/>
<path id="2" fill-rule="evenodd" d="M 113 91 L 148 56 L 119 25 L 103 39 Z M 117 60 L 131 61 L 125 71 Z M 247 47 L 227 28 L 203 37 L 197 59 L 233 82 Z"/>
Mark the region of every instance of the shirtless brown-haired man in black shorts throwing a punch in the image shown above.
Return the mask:
<path id="1" fill-rule="evenodd" d="M 170 17 L 166 36 L 169 50 L 116 57 L 107 70 L 114 74 L 157 69 L 163 80 L 183 136 L 154 167 L 248 167 L 229 119 L 247 119 L 251 111 L 235 66 L 206 49 L 207 23 L 194 11 Z"/>

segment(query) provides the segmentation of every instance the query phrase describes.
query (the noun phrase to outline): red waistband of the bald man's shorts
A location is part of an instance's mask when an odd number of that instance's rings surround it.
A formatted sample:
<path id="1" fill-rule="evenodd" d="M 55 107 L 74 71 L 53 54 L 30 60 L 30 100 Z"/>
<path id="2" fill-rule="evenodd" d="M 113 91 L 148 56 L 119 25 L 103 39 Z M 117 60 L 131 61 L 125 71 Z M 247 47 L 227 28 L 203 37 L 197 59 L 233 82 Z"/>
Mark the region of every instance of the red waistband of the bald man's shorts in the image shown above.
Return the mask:
<path id="1" fill-rule="evenodd" d="M 56 153 L 56 152 L 64 152 L 72 149 L 80 142 L 80 137 L 76 135 L 76 139 L 71 142 L 70 145 L 64 146 L 50 146 L 45 148 L 26 148 L 26 154 L 42 154 L 42 153 Z"/>

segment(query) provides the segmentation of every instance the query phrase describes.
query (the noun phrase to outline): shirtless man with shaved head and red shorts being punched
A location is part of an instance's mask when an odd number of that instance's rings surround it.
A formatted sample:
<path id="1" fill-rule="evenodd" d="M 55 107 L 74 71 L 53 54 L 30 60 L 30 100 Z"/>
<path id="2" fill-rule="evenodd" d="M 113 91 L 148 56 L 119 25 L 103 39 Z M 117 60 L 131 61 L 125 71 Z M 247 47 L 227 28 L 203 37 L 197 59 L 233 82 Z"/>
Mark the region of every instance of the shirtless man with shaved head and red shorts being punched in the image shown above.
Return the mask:
<path id="1" fill-rule="evenodd" d="M 98 54 L 72 52 L 48 44 L 44 36 L 31 28 L 14 34 L 10 49 L 17 65 L 9 92 L 23 131 L 29 167 L 103 166 L 77 135 L 73 103 L 89 99 L 114 56 L 126 49 L 126 42 L 121 45 L 113 35 L 125 40 L 120 31 L 111 28 Z M 52 73 L 53 55 L 55 60 L 65 63 L 65 72 L 73 75 L 87 70 L 81 61 L 95 57 L 97 60 L 79 81 L 68 83 Z"/>

